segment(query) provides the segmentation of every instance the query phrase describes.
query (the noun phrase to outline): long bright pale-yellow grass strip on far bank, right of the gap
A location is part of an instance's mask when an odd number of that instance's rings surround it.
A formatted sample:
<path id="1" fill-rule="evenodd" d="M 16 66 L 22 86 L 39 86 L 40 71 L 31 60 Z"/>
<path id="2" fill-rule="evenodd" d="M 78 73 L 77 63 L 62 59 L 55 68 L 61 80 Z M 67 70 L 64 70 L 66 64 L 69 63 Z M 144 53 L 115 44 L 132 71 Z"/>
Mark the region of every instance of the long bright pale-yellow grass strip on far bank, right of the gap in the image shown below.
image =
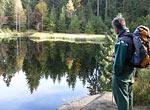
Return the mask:
<path id="1" fill-rule="evenodd" d="M 75 43 L 101 43 L 105 35 L 92 34 L 66 34 L 66 33 L 34 33 L 31 39 L 36 42 L 41 41 L 64 41 Z"/>

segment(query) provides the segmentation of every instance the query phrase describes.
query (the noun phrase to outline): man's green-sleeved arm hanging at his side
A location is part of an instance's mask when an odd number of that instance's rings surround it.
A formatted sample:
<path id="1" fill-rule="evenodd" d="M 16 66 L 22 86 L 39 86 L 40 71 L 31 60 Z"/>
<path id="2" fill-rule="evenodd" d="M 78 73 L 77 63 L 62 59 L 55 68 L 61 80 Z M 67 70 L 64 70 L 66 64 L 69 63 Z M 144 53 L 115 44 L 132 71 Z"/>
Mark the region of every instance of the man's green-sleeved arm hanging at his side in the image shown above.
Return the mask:
<path id="1" fill-rule="evenodd" d="M 113 73 L 119 75 L 123 71 L 123 66 L 128 54 L 128 44 L 124 41 L 118 41 L 115 45 L 115 59 L 113 64 Z"/>

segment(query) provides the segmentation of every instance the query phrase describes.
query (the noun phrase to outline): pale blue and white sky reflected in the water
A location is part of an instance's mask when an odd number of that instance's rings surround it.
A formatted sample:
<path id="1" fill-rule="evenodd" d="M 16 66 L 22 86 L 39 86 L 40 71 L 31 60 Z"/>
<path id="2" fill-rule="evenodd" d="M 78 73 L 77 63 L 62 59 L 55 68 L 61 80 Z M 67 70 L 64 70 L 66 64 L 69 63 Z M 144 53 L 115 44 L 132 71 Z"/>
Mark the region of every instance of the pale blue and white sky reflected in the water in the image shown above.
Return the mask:
<path id="1" fill-rule="evenodd" d="M 30 93 L 25 75 L 22 71 L 12 78 L 9 87 L 0 77 L 0 110 L 55 110 L 62 104 L 88 95 L 88 90 L 77 80 L 74 90 L 68 88 L 66 78 L 61 83 L 53 83 L 52 79 L 40 80 L 37 91 Z"/>

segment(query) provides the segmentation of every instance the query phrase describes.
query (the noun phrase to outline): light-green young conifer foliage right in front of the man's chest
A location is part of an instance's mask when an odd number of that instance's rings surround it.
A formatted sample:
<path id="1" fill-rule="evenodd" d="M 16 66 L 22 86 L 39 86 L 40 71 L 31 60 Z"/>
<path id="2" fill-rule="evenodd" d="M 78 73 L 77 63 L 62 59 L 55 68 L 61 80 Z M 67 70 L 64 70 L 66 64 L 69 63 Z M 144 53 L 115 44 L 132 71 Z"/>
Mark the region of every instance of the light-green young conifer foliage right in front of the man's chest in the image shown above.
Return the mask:
<path id="1" fill-rule="evenodd" d="M 109 80 L 111 80 L 112 75 L 112 53 L 116 40 L 117 38 L 115 35 L 106 35 L 106 38 L 104 39 L 104 44 L 100 44 L 101 50 L 96 57 L 103 75 Z"/>

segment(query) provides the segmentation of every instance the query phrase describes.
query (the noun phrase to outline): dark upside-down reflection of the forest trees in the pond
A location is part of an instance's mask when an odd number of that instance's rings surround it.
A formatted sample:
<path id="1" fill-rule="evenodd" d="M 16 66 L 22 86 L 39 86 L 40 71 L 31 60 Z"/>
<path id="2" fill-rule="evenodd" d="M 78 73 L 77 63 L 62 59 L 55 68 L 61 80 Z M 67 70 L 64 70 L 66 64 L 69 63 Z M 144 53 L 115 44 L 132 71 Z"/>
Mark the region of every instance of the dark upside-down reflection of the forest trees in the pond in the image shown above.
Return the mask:
<path id="1" fill-rule="evenodd" d="M 71 88 L 75 88 L 77 78 L 82 80 L 83 85 L 88 83 L 90 94 L 110 87 L 95 60 L 101 49 L 99 45 L 36 43 L 24 38 L 2 41 L 0 47 L 0 74 L 7 86 L 15 74 L 23 70 L 31 93 L 38 88 L 41 78 L 61 83 L 63 76 L 67 76 L 66 81 Z"/>

